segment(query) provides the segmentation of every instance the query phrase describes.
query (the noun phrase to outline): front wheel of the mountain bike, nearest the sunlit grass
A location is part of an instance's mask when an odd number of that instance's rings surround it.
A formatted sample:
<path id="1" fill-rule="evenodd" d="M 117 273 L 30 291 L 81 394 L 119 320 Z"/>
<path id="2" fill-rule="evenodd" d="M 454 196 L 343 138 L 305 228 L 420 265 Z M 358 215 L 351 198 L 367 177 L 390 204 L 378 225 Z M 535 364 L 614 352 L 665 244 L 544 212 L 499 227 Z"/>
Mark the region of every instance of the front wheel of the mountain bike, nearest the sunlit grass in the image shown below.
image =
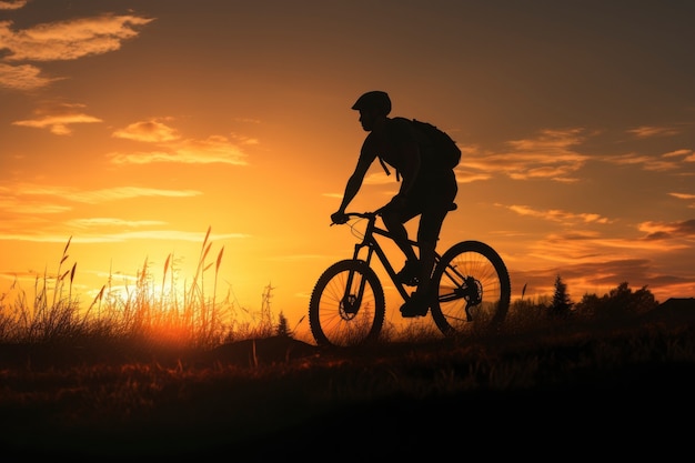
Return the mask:
<path id="1" fill-rule="evenodd" d="M 309 326 L 319 345 L 355 346 L 379 338 L 386 304 L 376 273 L 360 260 L 329 266 L 309 302 Z"/>

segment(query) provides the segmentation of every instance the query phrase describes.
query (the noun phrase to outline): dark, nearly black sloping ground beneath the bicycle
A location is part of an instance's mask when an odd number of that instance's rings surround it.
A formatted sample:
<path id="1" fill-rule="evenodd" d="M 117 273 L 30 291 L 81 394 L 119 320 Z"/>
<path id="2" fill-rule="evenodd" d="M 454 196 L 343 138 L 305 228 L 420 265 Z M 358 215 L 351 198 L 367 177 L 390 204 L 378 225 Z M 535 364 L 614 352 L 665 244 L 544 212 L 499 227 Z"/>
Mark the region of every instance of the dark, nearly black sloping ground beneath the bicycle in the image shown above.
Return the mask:
<path id="1" fill-rule="evenodd" d="M 689 454 L 695 313 L 331 351 L 0 346 L 0 461 Z"/>

